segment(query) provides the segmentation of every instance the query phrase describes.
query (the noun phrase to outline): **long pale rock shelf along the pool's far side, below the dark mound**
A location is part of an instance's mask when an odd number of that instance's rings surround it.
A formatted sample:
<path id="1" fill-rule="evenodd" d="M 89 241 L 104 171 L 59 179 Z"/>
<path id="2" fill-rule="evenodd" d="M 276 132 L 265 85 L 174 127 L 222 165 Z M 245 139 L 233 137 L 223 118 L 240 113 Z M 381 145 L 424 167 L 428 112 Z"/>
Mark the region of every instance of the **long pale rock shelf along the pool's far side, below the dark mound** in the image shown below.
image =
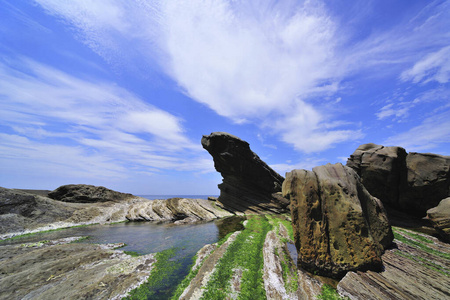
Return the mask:
<path id="1" fill-rule="evenodd" d="M 75 190 L 86 189 L 81 186 Z M 88 187 L 87 190 L 89 191 L 91 188 Z M 122 194 L 109 191 L 107 190 L 104 194 L 106 198 L 103 199 L 107 199 L 108 195 L 119 197 Z M 96 195 L 95 197 L 100 197 L 100 194 Z M 75 203 L 57 201 L 21 190 L 0 188 L 0 239 L 94 223 L 104 224 L 130 220 L 181 224 L 233 215 L 221 209 L 212 200 L 173 198 L 149 201 L 145 198 L 129 197 L 130 194 L 122 195 L 125 195 L 126 198 L 122 198 L 120 201 L 99 200 Z"/>

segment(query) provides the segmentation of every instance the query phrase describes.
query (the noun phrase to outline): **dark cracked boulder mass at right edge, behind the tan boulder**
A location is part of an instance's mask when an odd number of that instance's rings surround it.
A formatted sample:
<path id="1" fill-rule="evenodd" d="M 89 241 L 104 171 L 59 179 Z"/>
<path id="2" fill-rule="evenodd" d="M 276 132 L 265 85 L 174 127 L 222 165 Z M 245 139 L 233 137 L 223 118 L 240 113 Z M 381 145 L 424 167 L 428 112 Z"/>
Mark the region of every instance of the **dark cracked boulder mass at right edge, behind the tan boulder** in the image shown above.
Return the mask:
<path id="1" fill-rule="evenodd" d="M 449 156 L 364 144 L 350 155 L 347 166 L 384 204 L 417 216 L 450 196 Z"/>

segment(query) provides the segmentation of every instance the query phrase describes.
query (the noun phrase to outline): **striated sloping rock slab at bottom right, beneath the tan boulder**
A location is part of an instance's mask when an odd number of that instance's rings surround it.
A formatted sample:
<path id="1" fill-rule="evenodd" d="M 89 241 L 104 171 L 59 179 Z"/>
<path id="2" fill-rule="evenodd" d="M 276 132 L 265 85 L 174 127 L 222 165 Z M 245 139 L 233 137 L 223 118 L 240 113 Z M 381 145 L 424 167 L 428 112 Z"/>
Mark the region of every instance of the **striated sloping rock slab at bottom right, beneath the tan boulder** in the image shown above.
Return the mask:
<path id="1" fill-rule="evenodd" d="M 421 239 L 427 242 L 414 239 L 418 234 L 408 230 L 396 234 L 397 247 L 382 256 L 383 271 L 347 273 L 338 284 L 339 294 L 351 300 L 449 299 L 448 245 L 426 235 Z"/>

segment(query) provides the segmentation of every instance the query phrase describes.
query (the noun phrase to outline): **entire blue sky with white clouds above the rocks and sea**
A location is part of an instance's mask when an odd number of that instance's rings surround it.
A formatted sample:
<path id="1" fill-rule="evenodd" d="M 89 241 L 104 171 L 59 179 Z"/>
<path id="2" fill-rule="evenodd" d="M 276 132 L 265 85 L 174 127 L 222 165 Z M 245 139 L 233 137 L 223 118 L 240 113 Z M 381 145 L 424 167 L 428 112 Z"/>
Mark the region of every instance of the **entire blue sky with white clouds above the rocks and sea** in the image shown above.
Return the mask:
<path id="1" fill-rule="evenodd" d="M 0 0 L 0 186 L 218 194 L 226 131 L 280 174 L 450 155 L 450 1 Z"/>

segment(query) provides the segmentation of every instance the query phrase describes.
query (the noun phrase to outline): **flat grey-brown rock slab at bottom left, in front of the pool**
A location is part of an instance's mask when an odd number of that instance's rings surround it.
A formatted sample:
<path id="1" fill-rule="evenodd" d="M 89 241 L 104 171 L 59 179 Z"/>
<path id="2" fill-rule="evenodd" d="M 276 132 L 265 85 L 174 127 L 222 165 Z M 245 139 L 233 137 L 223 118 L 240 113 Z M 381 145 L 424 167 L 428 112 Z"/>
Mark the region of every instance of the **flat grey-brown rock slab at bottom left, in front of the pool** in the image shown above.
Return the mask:
<path id="1" fill-rule="evenodd" d="M 0 299 L 121 299 L 155 262 L 74 239 L 0 246 Z"/>

